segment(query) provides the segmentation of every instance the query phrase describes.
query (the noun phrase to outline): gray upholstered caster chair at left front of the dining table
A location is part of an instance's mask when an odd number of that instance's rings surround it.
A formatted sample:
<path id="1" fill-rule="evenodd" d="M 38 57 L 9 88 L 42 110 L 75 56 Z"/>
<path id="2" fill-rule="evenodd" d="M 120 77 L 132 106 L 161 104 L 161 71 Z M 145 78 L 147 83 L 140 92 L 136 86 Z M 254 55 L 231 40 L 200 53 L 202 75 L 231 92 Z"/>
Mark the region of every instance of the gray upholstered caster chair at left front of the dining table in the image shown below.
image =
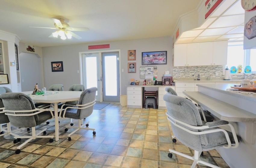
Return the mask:
<path id="1" fill-rule="evenodd" d="M 14 143 L 17 143 L 18 138 L 29 138 L 15 151 L 16 154 L 20 153 L 20 148 L 35 138 L 51 138 L 49 142 L 53 142 L 53 136 L 38 136 L 43 133 L 46 134 L 46 128 L 36 134 L 35 127 L 42 124 L 48 119 L 53 119 L 51 109 L 37 109 L 30 96 L 23 93 L 3 93 L 1 99 L 5 107 L 5 114 L 11 122 L 11 125 L 19 128 L 32 128 L 32 136 L 15 136 Z"/>

